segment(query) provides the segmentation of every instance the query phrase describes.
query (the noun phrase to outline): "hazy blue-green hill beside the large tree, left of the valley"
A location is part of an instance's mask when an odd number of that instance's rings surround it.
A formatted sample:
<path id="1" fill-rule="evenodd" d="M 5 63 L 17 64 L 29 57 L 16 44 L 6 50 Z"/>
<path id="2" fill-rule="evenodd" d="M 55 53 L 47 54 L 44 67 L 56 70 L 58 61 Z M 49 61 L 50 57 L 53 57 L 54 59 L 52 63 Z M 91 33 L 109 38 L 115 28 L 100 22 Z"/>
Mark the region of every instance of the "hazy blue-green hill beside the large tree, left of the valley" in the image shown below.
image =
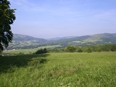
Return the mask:
<path id="1" fill-rule="evenodd" d="M 13 41 L 8 49 L 16 48 L 34 48 L 46 44 L 47 40 L 42 38 L 35 38 L 27 35 L 14 34 Z"/>

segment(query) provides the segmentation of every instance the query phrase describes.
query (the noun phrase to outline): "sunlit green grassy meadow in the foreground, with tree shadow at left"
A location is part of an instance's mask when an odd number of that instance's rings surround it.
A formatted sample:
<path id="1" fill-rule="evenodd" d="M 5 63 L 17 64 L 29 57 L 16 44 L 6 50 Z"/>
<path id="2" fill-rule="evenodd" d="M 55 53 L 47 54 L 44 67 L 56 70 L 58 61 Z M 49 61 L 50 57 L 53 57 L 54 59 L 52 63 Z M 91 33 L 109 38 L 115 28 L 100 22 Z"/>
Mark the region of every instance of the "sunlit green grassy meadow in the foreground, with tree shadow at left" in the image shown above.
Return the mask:
<path id="1" fill-rule="evenodd" d="M 116 87 L 116 52 L 0 57 L 0 87 Z"/>

